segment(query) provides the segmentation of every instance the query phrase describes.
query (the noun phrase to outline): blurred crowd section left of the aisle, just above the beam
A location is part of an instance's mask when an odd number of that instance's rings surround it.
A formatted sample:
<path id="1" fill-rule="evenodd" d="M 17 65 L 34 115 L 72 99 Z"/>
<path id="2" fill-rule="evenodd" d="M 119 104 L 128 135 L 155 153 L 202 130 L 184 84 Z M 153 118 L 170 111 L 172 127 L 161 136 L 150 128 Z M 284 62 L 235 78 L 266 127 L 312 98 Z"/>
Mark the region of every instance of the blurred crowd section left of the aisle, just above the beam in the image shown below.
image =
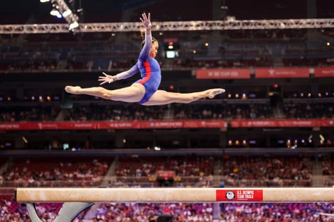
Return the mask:
<path id="1" fill-rule="evenodd" d="M 97 159 L 26 159 L 10 164 L 0 176 L 0 187 L 98 186 L 108 167 Z"/>

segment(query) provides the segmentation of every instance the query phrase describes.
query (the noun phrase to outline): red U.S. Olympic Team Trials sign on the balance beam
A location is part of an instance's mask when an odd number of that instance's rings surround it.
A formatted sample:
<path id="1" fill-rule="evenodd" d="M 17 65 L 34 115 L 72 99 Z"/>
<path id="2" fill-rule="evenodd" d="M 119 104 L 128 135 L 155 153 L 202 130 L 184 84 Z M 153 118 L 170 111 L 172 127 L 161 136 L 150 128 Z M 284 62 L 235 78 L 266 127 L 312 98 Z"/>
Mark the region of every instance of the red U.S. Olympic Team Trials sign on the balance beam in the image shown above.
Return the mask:
<path id="1" fill-rule="evenodd" d="M 216 190 L 216 201 L 263 201 L 262 189 Z"/>

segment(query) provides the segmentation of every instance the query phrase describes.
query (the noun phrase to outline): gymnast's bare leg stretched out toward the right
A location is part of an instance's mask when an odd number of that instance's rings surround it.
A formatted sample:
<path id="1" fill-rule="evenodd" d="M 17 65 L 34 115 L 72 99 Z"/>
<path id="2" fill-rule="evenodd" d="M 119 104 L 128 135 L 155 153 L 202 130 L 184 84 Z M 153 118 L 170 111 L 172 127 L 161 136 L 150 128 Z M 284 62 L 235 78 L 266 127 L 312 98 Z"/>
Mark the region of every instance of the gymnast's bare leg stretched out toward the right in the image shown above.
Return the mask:
<path id="1" fill-rule="evenodd" d="M 191 93 L 176 93 L 166 92 L 164 90 L 157 90 L 151 98 L 143 105 L 166 105 L 169 103 L 191 103 L 198 99 L 209 98 L 212 99 L 214 96 L 225 92 L 225 89 L 207 89 L 201 92 Z"/>

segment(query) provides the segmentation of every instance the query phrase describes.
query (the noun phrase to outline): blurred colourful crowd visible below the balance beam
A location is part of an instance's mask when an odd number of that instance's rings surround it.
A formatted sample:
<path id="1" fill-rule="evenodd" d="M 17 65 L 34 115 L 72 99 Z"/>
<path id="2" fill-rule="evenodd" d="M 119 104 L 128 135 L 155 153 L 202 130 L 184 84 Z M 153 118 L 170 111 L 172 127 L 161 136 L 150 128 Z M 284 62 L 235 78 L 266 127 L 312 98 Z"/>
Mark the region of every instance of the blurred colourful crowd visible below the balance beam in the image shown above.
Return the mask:
<path id="1" fill-rule="evenodd" d="M 24 206 L 13 200 L 1 198 L 1 222 L 30 222 Z M 37 204 L 38 215 L 45 222 L 55 218 L 61 203 Z M 213 203 L 101 203 L 93 219 L 84 219 L 88 210 L 74 222 L 152 221 L 152 216 L 173 216 L 168 221 L 182 222 L 299 222 L 333 221 L 331 203 L 221 203 L 220 213 L 214 219 Z M 326 215 L 327 214 L 327 215 Z M 332 216 L 331 216 L 332 215 Z"/>

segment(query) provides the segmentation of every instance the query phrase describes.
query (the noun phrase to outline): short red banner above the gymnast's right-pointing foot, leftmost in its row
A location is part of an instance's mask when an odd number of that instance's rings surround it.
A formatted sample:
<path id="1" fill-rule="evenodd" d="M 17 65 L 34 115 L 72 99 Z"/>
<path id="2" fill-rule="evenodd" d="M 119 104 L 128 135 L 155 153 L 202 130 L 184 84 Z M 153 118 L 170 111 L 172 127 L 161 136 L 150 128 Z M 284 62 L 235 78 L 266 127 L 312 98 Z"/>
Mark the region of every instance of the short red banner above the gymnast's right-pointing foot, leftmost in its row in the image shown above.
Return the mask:
<path id="1" fill-rule="evenodd" d="M 250 78 L 249 69 L 197 69 L 196 78 Z"/>

